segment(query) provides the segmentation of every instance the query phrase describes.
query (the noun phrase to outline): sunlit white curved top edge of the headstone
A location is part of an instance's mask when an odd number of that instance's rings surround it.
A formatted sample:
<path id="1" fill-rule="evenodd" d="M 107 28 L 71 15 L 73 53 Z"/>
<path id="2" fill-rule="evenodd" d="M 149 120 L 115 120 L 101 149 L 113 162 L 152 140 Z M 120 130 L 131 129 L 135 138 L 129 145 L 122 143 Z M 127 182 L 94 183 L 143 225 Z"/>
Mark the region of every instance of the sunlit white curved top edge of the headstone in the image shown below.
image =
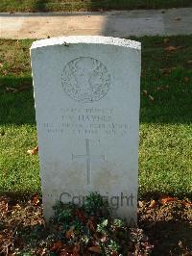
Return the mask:
<path id="1" fill-rule="evenodd" d="M 128 47 L 135 50 L 141 49 L 141 43 L 138 41 L 124 39 L 124 38 L 112 38 L 112 37 L 101 37 L 101 36 L 70 36 L 60 38 L 47 38 L 36 40 L 31 49 L 36 49 L 45 46 L 54 45 L 67 45 L 70 43 L 92 43 L 92 44 L 109 44 L 122 47 Z"/>

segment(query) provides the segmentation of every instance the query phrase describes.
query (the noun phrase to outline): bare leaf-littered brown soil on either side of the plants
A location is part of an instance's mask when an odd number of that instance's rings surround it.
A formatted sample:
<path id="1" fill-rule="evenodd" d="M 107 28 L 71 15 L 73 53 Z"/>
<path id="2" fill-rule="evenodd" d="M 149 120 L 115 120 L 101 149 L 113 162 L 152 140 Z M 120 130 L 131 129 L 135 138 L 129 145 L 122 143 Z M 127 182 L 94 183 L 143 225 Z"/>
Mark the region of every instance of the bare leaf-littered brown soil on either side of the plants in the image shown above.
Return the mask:
<path id="1" fill-rule="evenodd" d="M 164 195 L 156 200 L 139 201 L 138 227 L 154 245 L 151 255 L 192 255 L 192 203 L 188 199 Z M 46 254 L 46 244 L 51 241 L 47 240 L 47 232 L 38 195 L 30 200 L 0 196 L 0 255 L 31 255 L 19 254 L 19 250 L 32 245 L 33 234 L 44 239 L 36 255 L 70 255 Z"/>

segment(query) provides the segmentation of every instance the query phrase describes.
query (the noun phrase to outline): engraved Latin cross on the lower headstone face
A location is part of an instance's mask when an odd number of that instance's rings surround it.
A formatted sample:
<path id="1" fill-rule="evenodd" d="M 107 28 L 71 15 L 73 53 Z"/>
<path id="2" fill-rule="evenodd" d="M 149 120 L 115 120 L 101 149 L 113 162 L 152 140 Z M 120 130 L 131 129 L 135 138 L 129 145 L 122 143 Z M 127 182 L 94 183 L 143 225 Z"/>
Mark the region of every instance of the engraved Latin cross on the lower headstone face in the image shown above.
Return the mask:
<path id="1" fill-rule="evenodd" d="M 94 156 L 90 153 L 90 140 L 85 139 L 86 154 L 85 155 L 74 155 L 72 154 L 72 161 L 75 158 L 84 158 L 86 160 L 86 172 L 87 172 L 87 185 L 90 185 L 91 179 L 91 160 L 100 159 L 105 161 L 105 155 Z"/>

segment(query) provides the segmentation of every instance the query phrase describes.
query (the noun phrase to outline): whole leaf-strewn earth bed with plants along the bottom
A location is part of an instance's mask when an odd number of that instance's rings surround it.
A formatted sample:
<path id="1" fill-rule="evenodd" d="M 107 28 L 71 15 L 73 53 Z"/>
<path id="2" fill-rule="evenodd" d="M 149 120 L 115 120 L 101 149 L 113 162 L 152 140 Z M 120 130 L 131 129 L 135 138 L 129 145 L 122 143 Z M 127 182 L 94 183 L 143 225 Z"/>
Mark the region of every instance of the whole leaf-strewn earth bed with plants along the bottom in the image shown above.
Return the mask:
<path id="1" fill-rule="evenodd" d="M 192 255 L 190 200 L 138 201 L 135 228 L 109 218 L 105 207 L 94 194 L 83 208 L 58 203 L 47 225 L 37 194 L 28 200 L 2 195 L 0 255 Z"/>

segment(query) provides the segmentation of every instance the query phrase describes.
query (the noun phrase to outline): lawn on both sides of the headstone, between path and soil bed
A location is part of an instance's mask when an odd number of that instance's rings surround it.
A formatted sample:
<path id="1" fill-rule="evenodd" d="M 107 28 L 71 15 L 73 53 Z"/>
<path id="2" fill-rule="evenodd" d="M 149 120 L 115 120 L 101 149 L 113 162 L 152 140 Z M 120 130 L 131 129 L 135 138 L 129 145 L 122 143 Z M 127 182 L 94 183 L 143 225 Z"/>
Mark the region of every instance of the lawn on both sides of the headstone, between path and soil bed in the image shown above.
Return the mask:
<path id="1" fill-rule="evenodd" d="M 192 197 L 192 36 L 137 39 L 142 42 L 139 196 Z M 0 193 L 40 192 L 38 156 L 27 154 L 36 146 L 31 43 L 0 39 Z M 166 50 L 169 46 L 174 50 Z M 23 86 L 18 93 L 6 91 Z"/>

